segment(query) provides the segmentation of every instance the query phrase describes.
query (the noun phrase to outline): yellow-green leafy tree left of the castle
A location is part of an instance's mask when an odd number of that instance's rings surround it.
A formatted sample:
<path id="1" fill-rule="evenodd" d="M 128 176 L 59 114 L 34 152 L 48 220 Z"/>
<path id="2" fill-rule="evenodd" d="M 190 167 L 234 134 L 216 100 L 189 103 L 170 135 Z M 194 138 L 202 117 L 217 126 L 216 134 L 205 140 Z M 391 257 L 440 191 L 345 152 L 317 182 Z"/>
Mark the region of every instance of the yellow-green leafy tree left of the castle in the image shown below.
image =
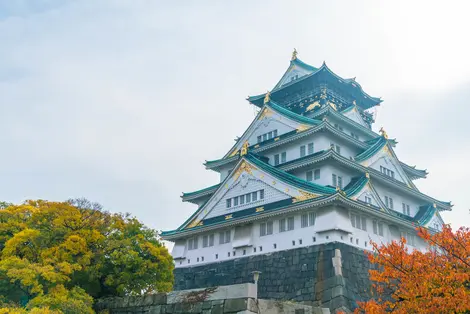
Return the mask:
<path id="1" fill-rule="evenodd" d="M 29 309 L 92 313 L 92 298 L 172 288 L 157 232 L 84 199 L 0 210 L 0 254 L 0 302 Z"/>

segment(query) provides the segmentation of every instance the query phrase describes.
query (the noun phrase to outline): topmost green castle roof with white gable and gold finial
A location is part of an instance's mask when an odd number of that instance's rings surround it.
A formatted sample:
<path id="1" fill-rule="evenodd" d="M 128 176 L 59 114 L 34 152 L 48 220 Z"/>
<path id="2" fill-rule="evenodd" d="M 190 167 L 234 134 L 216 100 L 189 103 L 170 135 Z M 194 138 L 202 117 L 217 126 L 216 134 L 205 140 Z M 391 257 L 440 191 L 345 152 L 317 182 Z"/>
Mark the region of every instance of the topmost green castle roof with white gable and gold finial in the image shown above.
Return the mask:
<path id="1" fill-rule="evenodd" d="M 336 75 L 324 62 L 320 68 L 302 62 L 297 58 L 295 50 L 289 67 L 270 92 L 270 98 L 278 104 L 289 107 L 287 102 L 301 101 L 303 96 L 308 94 L 307 91 L 313 91 L 325 85 L 328 89 L 335 89 L 350 105 L 356 104 L 363 110 L 380 105 L 382 102 L 380 98 L 372 97 L 364 92 L 354 78 L 343 79 Z M 266 93 L 250 96 L 248 101 L 262 107 L 265 96 Z"/>

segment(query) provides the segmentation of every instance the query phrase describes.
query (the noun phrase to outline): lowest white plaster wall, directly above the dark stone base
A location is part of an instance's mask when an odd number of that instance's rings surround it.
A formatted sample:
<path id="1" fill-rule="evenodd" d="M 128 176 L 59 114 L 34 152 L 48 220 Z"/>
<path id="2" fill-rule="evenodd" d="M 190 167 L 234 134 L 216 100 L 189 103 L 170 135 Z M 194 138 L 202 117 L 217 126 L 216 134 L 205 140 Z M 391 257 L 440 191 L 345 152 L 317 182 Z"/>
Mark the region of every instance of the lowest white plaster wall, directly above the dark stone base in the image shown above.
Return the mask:
<path id="1" fill-rule="evenodd" d="M 332 210 L 333 208 L 330 207 Z M 326 211 L 328 208 L 322 209 L 323 214 L 326 214 Z M 353 228 L 350 220 L 347 222 L 347 218 L 349 216 L 346 216 L 348 211 L 343 209 L 343 212 L 339 211 L 343 217 L 340 219 L 345 225 L 349 225 L 351 232 L 345 232 L 342 230 L 331 230 L 331 231 L 326 231 L 326 232 L 320 232 L 318 233 L 317 231 L 320 231 L 324 229 L 322 225 L 319 223 L 321 222 L 321 219 L 317 217 L 317 220 L 315 222 L 314 226 L 306 227 L 306 228 L 301 228 L 301 213 L 295 213 L 295 214 L 287 214 L 284 217 L 291 217 L 294 216 L 295 218 L 295 223 L 294 223 L 294 230 L 291 231 L 286 231 L 286 232 L 279 232 L 279 219 L 282 217 L 276 217 L 275 219 L 272 219 L 274 222 L 273 225 L 273 234 L 272 235 L 267 235 L 260 237 L 260 223 L 269 221 L 258 221 L 253 224 L 252 227 L 252 245 L 249 247 L 245 248 L 239 248 L 239 249 L 233 249 L 232 243 L 225 243 L 225 244 L 219 244 L 219 231 L 211 232 L 215 233 L 215 238 L 214 238 L 214 243 L 215 245 L 212 247 L 207 247 L 203 248 L 202 247 L 202 236 L 199 236 L 199 245 L 197 250 L 187 250 L 186 251 L 186 259 L 183 260 L 177 260 L 176 261 L 176 267 L 188 267 L 188 266 L 195 266 L 195 265 L 201 265 L 201 264 L 206 264 L 206 263 L 213 263 L 213 262 L 220 262 L 220 261 L 225 261 L 225 260 L 231 260 L 243 256 L 251 256 L 251 255 L 256 255 L 256 254 L 266 254 L 266 253 L 271 253 L 275 251 L 282 251 L 282 250 L 289 250 L 289 249 L 295 249 L 299 247 L 306 247 L 306 246 L 311 246 L 311 245 L 316 245 L 316 244 L 322 244 L 322 243 L 327 243 L 327 242 L 343 242 L 346 244 L 349 244 L 351 246 L 360 248 L 360 249 L 366 249 L 366 250 L 372 250 L 372 246 L 370 245 L 370 240 L 373 240 L 376 243 L 389 243 L 392 240 L 399 240 L 401 236 L 401 231 L 403 231 L 403 228 L 398 228 L 394 225 L 389 226 L 389 224 L 381 220 L 380 218 L 372 217 L 372 216 L 367 216 L 367 231 L 363 231 L 361 229 Z M 313 209 L 315 211 L 315 209 Z M 304 212 L 308 212 L 304 211 Z M 352 211 L 354 213 L 361 213 L 359 211 Z M 318 212 L 318 215 L 322 215 L 321 211 Z M 372 226 L 372 220 L 373 219 L 378 219 L 381 221 L 384 225 L 384 236 L 379 236 L 373 234 L 373 226 Z M 337 223 L 337 221 L 333 222 Z M 343 228 L 343 227 L 341 227 Z M 340 229 L 341 229 L 340 228 Z M 225 230 L 225 229 L 223 229 Z M 234 229 L 232 229 L 231 232 L 231 239 L 233 239 L 234 236 Z M 393 232 L 394 230 L 394 232 Z M 408 230 L 409 232 L 413 232 L 412 229 Z M 300 241 L 302 240 L 302 244 L 300 244 Z M 295 243 L 293 242 L 295 241 Z M 418 237 L 415 237 L 415 243 L 416 247 L 408 246 L 410 249 L 417 248 L 420 250 L 425 249 L 424 242 L 419 240 Z M 274 244 L 276 244 L 276 248 L 274 248 Z M 262 250 L 260 249 L 262 247 Z M 254 249 L 256 248 L 256 252 Z M 235 252 L 235 256 L 234 253 Z M 230 256 L 229 256 L 230 253 Z M 245 253 L 245 255 L 243 254 Z M 216 258 L 216 254 L 218 255 L 218 258 Z M 202 260 L 202 257 L 204 257 L 204 261 Z M 199 258 L 199 262 L 197 261 Z M 189 262 L 188 262 L 189 260 Z"/>

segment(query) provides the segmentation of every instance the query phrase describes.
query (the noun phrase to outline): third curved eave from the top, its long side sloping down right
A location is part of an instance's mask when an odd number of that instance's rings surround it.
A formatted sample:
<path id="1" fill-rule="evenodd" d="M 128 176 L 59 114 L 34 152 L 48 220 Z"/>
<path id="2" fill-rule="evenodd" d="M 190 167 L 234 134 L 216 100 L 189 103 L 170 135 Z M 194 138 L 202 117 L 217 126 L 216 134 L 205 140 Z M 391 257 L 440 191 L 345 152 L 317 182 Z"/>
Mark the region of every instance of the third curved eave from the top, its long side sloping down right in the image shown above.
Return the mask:
<path id="1" fill-rule="evenodd" d="M 369 168 L 369 167 L 364 167 L 362 166 L 361 164 L 358 164 L 354 161 L 351 161 L 341 155 L 339 155 L 338 153 L 336 153 L 335 151 L 333 150 L 327 150 L 327 151 L 324 151 L 323 154 L 319 154 L 319 155 L 316 155 L 316 156 L 308 156 L 308 158 L 302 158 L 302 159 L 296 159 L 296 160 L 293 160 L 291 162 L 289 162 L 289 164 L 281 164 L 279 165 L 279 169 L 283 170 L 283 171 L 293 171 L 295 169 L 298 169 L 298 168 L 302 168 L 302 167 L 305 167 L 305 166 L 308 166 L 308 165 L 313 165 L 313 164 L 316 164 L 316 163 L 319 163 L 319 162 L 322 162 L 324 160 L 327 160 L 329 158 L 332 158 L 340 163 L 342 163 L 343 165 L 345 166 L 348 166 L 349 168 L 351 169 L 355 169 L 359 172 L 362 172 L 362 173 L 369 173 L 370 177 L 373 178 L 373 179 L 377 179 L 378 181 L 388 185 L 388 186 L 393 186 L 405 193 L 408 193 L 408 194 L 411 194 L 411 195 L 414 195 L 415 197 L 423 200 L 424 202 L 428 202 L 428 203 L 432 203 L 432 204 L 436 204 L 437 205 L 437 208 L 439 210 L 452 210 L 452 204 L 450 202 L 444 202 L 444 201 L 439 201 L 439 200 L 436 200 L 426 194 L 423 194 L 421 192 L 419 192 L 418 190 L 416 189 L 413 189 L 413 188 L 410 188 L 408 185 L 406 185 L 405 183 L 401 182 L 401 181 L 398 181 L 396 179 L 392 179 L 386 175 L 384 175 L 383 173 L 381 173 L 380 171 L 376 170 L 376 169 L 373 169 L 373 168 Z"/>

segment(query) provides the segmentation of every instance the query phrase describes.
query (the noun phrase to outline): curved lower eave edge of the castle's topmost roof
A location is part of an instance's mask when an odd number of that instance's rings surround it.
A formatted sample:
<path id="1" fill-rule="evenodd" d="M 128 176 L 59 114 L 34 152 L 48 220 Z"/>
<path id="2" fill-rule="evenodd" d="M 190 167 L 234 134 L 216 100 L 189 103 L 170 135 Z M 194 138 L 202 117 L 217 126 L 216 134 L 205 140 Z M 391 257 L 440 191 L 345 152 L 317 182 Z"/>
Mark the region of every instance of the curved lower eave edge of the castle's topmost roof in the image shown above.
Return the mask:
<path id="1" fill-rule="evenodd" d="M 344 86 L 346 88 L 353 88 L 353 90 L 357 89 L 358 96 L 361 96 L 361 98 L 360 98 L 361 101 L 359 102 L 358 105 L 361 106 L 363 109 L 372 108 L 372 107 L 380 104 L 383 101 L 382 99 L 380 99 L 378 97 L 372 97 L 369 94 L 367 94 L 366 92 L 364 92 L 364 90 L 362 89 L 362 86 L 358 82 L 356 82 L 355 80 L 341 78 L 340 76 L 335 74 L 333 71 L 331 71 L 325 63 L 323 63 L 323 65 L 318 70 L 316 70 L 315 72 L 312 72 L 311 74 L 308 74 L 308 75 L 304 75 L 304 76 L 298 78 L 295 81 L 292 81 L 292 82 L 289 82 L 287 84 L 284 84 L 284 85 L 280 86 L 278 89 L 272 90 L 271 91 L 271 98 L 275 99 L 277 93 L 279 93 L 281 91 L 285 91 L 290 86 L 293 86 L 293 85 L 299 84 L 299 83 L 303 83 L 306 80 L 314 78 L 315 76 L 321 75 L 323 73 L 325 73 L 327 75 L 330 75 L 332 79 L 340 82 L 341 84 L 344 84 Z M 247 98 L 247 100 L 251 104 L 254 104 L 258 107 L 262 107 L 263 99 L 264 99 L 265 95 L 266 95 L 266 93 L 256 95 L 256 96 L 249 96 Z"/>

